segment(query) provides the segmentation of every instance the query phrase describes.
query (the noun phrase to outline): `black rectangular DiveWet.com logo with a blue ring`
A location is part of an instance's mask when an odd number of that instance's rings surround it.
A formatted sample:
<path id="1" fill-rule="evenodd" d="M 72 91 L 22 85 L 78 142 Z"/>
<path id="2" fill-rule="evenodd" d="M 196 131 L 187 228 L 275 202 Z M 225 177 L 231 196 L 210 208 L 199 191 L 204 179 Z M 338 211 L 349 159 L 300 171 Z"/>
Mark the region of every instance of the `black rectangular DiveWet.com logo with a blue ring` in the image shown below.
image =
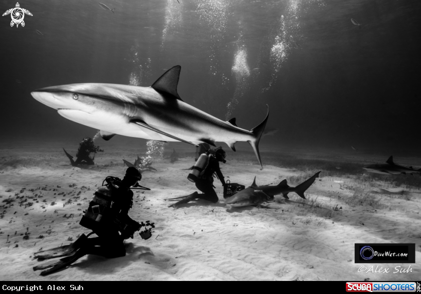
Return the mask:
<path id="1" fill-rule="evenodd" d="M 415 263 L 415 243 L 356 243 L 355 263 Z"/>

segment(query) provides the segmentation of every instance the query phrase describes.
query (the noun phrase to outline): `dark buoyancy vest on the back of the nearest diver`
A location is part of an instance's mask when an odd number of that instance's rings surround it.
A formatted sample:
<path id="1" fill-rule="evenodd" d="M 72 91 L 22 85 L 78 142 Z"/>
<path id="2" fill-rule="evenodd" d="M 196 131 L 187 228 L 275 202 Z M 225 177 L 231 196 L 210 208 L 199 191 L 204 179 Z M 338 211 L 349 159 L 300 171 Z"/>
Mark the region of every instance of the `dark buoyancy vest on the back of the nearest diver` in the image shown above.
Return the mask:
<path id="1" fill-rule="evenodd" d="M 121 210 L 120 201 L 115 199 L 119 197 L 117 194 L 117 188 L 112 185 L 100 187 L 79 224 L 91 230 L 112 226 Z"/>

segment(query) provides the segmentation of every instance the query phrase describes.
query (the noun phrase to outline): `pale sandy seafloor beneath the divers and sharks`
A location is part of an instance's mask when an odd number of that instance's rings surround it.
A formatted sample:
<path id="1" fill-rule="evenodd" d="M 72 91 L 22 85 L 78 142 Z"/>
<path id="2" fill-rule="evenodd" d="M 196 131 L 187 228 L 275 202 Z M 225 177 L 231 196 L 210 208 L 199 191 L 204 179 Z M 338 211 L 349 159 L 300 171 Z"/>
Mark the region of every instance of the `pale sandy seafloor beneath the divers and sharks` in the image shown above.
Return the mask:
<path id="1" fill-rule="evenodd" d="M 126 240 L 125 257 L 84 256 L 65 270 L 45 277 L 33 271 L 33 266 L 40 263 L 32 258 L 36 251 L 68 244 L 69 238 L 75 240 L 89 232 L 79 225 L 82 211 L 106 176 L 123 177 L 126 167 L 122 159 L 134 162 L 136 155 L 144 154 L 144 140 L 138 141 L 141 150 L 133 142 L 99 142 L 105 152 L 97 154 L 97 165 L 92 169 L 69 165 L 61 148 L 75 155 L 77 141 L 0 143 L 1 280 L 406 281 L 421 276 L 421 187 L 386 187 L 381 182 L 366 185 L 352 175 L 326 176 L 322 170 L 306 193 L 308 205 L 300 204 L 300 198 L 291 193 L 290 201 L 271 203 L 269 207 L 274 209 L 229 211 L 223 204 L 223 188 L 216 180 L 220 203 L 193 201 L 173 209 L 163 199 L 195 191 L 194 184 L 186 179 L 189 171 L 181 170 L 193 165 L 194 148 L 181 143 L 170 143 L 166 155 L 175 148 L 183 158 L 174 164 L 169 159 L 154 163 L 157 172 L 144 172 L 140 182 L 151 191 L 135 192 L 129 215 L 139 222 L 155 223 L 149 240 L 137 234 Z M 272 166 L 263 147 L 264 169 L 260 170 L 252 154 L 242 159 L 242 150 L 251 152 L 250 146 L 239 144 L 236 154 L 228 153 L 229 161 L 222 165 L 222 171 L 226 180 L 246 187 L 255 176 L 263 185 L 317 172 Z M 334 156 L 319 153 L 314 157 L 334 157 L 344 165 L 349 160 L 361 161 L 361 166 L 369 160 L 386 160 L 352 152 Z M 276 156 L 282 157 L 282 151 Z M 355 186 L 362 195 L 372 191 L 374 204 L 352 202 Z M 25 233 L 29 238 L 24 239 Z M 416 263 L 372 264 L 374 269 L 378 265 L 377 270 L 388 267 L 389 273 L 358 272 L 361 265 L 354 263 L 354 243 L 363 242 L 415 243 Z M 411 271 L 393 273 L 396 266 Z"/>

